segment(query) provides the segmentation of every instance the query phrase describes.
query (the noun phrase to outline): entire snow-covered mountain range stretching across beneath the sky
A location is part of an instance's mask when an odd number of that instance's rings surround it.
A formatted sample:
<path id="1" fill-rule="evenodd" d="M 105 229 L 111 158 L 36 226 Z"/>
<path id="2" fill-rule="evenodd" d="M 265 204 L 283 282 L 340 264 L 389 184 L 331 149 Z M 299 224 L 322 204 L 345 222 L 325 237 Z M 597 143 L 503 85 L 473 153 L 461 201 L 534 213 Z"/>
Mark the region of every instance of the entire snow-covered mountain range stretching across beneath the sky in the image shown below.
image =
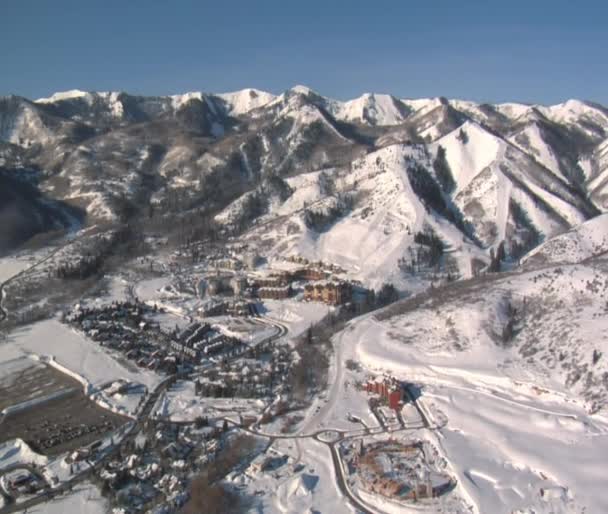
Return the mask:
<path id="1" fill-rule="evenodd" d="M 608 110 L 578 100 L 74 90 L 0 99 L 0 140 L 5 171 L 37 170 L 90 223 L 197 209 L 374 283 L 418 265 L 421 233 L 471 276 L 501 243 L 517 260 L 608 205 Z"/>

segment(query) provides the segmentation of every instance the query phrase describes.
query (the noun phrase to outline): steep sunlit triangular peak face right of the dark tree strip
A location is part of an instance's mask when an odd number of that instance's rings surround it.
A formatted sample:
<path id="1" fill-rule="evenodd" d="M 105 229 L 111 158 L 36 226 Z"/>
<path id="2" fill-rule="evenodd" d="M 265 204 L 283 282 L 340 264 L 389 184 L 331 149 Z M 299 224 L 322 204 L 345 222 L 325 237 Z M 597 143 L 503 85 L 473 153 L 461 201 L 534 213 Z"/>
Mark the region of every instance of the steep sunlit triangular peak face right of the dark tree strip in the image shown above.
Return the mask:
<path id="1" fill-rule="evenodd" d="M 454 180 L 454 202 L 486 244 L 497 244 L 526 224 L 514 212 L 513 202 L 544 236 L 586 219 L 584 199 L 528 154 L 477 123 L 465 122 L 430 145 L 436 159 L 440 148 Z"/>

